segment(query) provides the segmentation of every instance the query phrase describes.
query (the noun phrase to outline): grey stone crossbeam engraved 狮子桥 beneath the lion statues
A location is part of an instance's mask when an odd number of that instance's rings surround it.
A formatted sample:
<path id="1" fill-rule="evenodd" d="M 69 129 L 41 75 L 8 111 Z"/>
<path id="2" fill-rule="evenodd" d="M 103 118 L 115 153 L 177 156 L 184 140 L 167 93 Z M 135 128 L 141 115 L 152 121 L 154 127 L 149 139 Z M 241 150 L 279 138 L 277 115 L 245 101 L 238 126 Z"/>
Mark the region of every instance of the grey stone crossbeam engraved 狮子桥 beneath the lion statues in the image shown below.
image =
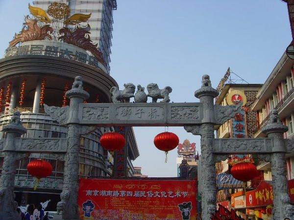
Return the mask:
<path id="1" fill-rule="evenodd" d="M 183 126 L 200 124 L 200 103 L 110 103 L 80 104 L 81 124 L 101 126 Z"/>

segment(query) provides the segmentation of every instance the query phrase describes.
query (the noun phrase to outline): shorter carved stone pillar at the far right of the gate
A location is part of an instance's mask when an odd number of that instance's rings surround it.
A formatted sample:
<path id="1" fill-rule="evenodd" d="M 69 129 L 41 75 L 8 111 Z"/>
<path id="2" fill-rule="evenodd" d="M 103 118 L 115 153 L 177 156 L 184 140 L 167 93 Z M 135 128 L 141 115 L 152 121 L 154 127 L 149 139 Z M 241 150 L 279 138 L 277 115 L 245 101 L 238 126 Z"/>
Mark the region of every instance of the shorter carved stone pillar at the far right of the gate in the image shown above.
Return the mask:
<path id="1" fill-rule="evenodd" d="M 273 219 L 285 219 L 294 217 L 294 206 L 290 204 L 288 195 L 288 180 L 286 176 L 286 147 L 283 133 L 288 127 L 279 119 L 277 110 L 271 110 L 269 123 L 262 129 L 268 137 L 273 138 L 271 154 L 271 174 L 273 186 Z"/>

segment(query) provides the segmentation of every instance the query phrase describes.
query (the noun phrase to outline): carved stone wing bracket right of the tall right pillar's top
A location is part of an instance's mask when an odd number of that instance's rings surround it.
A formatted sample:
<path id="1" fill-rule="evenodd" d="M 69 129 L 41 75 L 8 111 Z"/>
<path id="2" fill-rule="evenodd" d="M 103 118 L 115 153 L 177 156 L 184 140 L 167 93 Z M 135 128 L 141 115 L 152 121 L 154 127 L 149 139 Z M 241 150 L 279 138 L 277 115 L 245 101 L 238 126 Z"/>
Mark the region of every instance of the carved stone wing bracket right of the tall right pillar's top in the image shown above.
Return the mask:
<path id="1" fill-rule="evenodd" d="M 243 102 L 239 105 L 221 106 L 215 105 L 215 118 L 216 124 L 222 125 L 227 120 L 235 116 L 236 113 L 240 112 L 242 109 Z"/>

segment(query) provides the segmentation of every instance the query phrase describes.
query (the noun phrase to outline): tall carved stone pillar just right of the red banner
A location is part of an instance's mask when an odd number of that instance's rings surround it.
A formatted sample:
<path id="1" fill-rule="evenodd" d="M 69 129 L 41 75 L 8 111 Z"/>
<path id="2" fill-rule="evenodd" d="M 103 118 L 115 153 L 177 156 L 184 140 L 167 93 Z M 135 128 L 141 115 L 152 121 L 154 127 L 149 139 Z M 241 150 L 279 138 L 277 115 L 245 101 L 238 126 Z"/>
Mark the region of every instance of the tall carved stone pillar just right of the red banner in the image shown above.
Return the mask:
<path id="1" fill-rule="evenodd" d="M 218 96 L 218 91 L 211 87 L 208 75 L 203 75 L 202 86 L 195 91 L 195 96 L 203 104 L 203 119 L 200 127 L 201 160 L 200 170 L 202 187 L 202 219 L 211 220 L 212 214 L 216 211 L 217 188 L 216 188 L 216 168 L 214 155 L 212 153 L 214 144 L 214 125 L 216 123 L 214 115 L 214 98 Z"/>

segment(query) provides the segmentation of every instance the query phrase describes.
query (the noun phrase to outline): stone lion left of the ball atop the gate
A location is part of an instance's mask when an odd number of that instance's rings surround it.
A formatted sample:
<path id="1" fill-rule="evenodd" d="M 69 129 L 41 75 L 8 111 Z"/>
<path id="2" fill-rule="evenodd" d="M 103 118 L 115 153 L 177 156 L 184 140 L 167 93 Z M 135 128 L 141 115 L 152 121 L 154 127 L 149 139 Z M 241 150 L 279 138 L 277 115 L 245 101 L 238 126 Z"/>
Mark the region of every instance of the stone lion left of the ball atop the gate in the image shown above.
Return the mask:
<path id="1" fill-rule="evenodd" d="M 119 90 L 117 87 L 112 87 L 110 93 L 112 94 L 113 103 L 130 102 L 130 98 L 134 97 L 135 85 L 132 83 L 123 84 L 124 89 Z"/>

